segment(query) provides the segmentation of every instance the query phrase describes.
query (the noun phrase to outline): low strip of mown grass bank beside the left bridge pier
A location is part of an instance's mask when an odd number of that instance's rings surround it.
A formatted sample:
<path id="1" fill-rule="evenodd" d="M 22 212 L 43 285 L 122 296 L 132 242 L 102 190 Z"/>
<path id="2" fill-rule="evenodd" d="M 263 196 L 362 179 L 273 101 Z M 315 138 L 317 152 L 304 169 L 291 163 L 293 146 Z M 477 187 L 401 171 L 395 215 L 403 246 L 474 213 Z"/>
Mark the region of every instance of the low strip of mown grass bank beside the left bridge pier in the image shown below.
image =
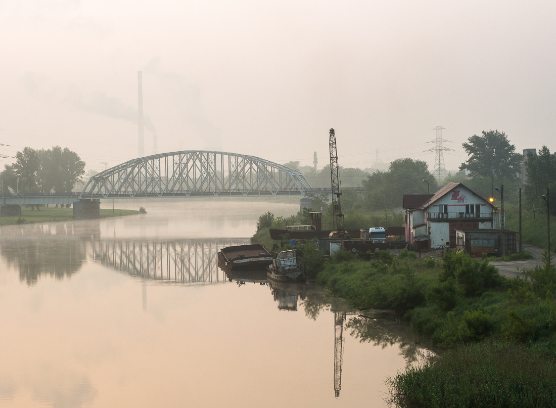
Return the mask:
<path id="1" fill-rule="evenodd" d="M 100 210 L 101 218 L 135 215 L 138 213 L 140 212 L 136 210 L 116 209 L 112 211 L 112 209 L 108 210 L 103 208 Z M 70 220 L 73 220 L 73 208 L 41 207 L 41 210 L 37 211 L 36 209 L 31 210 L 31 208 L 22 207 L 21 217 L 0 217 L 0 226 Z"/>

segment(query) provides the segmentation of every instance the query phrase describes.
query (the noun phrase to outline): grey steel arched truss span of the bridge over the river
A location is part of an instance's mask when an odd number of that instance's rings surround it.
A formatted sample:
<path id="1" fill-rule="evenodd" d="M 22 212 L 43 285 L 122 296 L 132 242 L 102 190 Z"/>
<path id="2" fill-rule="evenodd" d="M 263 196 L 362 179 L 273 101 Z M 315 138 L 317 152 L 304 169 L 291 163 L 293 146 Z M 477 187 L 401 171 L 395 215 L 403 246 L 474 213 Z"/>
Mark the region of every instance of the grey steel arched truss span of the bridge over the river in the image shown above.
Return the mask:
<path id="1" fill-rule="evenodd" d="M 255 156 L 212 151 L 161 153 L 92 176 L 80 199 L 307 196 L 301 172 Z"/>

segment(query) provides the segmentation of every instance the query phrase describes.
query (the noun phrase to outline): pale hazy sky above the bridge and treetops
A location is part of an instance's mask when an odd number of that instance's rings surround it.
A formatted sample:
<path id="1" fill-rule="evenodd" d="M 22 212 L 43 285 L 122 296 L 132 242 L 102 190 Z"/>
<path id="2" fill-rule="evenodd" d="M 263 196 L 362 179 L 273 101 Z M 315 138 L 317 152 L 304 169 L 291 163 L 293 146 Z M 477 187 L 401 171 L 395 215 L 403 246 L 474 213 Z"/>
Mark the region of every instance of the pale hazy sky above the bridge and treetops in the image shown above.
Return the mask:
<path id="1" fill-rule="evenodd" d="M 554 151 L 555 39 L 554 1 L 0 0 L 0 152 L 137 157 L 138 70 L 158 152 L 322 167 L 334 127 L 341 166 L 432 166 L 435 126 L 448 170 L 482 130 Z"/>

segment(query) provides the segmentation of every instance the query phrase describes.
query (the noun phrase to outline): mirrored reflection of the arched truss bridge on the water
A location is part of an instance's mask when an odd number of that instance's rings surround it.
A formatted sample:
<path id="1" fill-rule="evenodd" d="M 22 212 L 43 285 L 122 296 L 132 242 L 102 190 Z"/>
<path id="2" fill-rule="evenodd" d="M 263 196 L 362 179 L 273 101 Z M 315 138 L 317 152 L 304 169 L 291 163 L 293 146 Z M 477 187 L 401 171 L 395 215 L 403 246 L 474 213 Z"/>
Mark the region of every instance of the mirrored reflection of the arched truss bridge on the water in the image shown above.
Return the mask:
<path id="1" fill-rule="evenodd" d="M 226 282 L 217 265 L 221 248 L 245 240 L 101 240 L 92 242 L 92 258 L 127 275 L 176 285 Z"/>

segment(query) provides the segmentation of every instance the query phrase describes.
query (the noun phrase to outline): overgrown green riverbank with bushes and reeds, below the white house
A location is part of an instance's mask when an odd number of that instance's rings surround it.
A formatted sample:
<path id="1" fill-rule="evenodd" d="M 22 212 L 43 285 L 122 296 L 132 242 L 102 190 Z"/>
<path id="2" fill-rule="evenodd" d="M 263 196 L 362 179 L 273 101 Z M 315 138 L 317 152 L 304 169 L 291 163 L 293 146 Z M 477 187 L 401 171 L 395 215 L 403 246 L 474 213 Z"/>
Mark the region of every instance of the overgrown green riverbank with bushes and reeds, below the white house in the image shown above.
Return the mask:
<path id="1" fill-rule="evenodd" d="M 401 406 L 556 406 L 556 267 L 527 275 L 510 280 L 461 252 L 441 265 L 405 250 L 370 261 L 341 252 L 317 282 L 358 309 L 396 311 L 444 347 L 388 380 Z"/>

